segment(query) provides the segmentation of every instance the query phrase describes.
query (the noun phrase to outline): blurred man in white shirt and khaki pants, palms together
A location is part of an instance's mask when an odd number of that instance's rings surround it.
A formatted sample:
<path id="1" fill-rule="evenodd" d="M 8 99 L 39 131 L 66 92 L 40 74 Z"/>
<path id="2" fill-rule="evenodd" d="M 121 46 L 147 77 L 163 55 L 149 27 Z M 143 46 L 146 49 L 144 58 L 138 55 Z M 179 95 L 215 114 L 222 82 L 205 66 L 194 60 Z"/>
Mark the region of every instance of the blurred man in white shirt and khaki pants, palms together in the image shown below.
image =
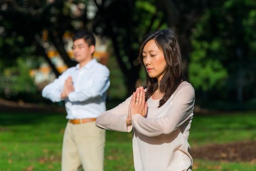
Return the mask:
<path id="1" fill-rule="evenodd" d="M 73 37 L 76 67 L 66 70 L 44 87 L 42 96 L 53 102 L 65 100 L 68 123 L 62 145 L 61 171 L 103 171 L 105 130 L 96 127 L 96 117 L 106 111 L 109 70 L 92 55 L 92 33 Z"/>

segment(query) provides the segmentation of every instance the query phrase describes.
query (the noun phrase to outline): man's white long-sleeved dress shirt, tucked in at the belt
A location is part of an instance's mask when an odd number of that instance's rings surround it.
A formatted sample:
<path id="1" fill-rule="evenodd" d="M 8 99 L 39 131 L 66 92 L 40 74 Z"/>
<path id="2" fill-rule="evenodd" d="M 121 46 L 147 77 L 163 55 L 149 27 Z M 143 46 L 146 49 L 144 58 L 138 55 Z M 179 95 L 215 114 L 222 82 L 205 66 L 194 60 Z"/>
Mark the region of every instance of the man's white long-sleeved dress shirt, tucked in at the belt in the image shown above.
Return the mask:
<path id="1" fill-rule="evenodd" d="M 106 111 L 106 91 L 110 85 L 109 70 L 96 59 L 82 68 L 79 68 L 79 64 L 68 68 L 44 87 L 42 96 L 53 102 L 61 101 L 61 92 L 69 76 L 72 77 L 75 91 L 65 98 L 67 119 L 96 118 Z"/>

